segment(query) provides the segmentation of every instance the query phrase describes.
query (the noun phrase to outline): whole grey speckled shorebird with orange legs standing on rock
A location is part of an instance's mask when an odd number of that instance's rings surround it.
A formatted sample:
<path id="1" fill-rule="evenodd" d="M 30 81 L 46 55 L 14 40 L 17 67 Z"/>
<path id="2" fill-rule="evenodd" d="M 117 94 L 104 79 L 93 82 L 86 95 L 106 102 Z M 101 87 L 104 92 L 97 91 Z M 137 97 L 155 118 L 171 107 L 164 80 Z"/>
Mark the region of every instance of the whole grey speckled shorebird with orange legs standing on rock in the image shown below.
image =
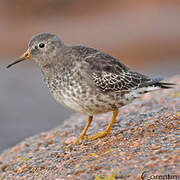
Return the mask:
<path id="1" fill-rule="evenodd" d="M 93 115 L 114 112 L 106 132 L 92 138 L 96 139 L 110 132 L 119 107 L 143 93 L 172 85 L 133 72 L 118 59 L 99 50 L 64 44 L 58 36 L 50 33 L 34 36 L 27 52 L 23 60 L 28 57 L 40 65 L 44 81 L 54 98 L 69 109 L 89 115 L 81 139 Z"/>

